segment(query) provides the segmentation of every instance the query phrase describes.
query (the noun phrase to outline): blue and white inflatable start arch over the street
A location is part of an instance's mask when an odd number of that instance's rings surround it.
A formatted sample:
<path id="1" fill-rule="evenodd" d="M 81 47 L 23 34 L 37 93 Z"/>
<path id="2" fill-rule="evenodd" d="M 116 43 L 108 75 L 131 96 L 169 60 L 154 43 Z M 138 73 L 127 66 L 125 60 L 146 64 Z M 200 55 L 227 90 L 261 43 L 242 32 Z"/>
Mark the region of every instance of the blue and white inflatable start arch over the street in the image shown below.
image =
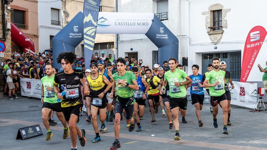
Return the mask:
<path id="1" fill-rule="evenodd" d="M 55 68 L 61 68 L 56 58 L 61 52 L 75 52 L 75 47 L 84 40 L 85 64 L 89 68 L 93 53 L 95 32 L 100 34 L 145 34 L 158 47 L 158 62 L 170 57 L 178 59 L 178 39 L 153 13 L 120 13 L 99 12 L 97 28 L 83 27 L 84 23 L 94 22 L 89 14 L 83 18 L 79 12 L 56 36 L 52 39 L 53 60 Z M 90 47 L 91 46 L 91 47 Z"/>

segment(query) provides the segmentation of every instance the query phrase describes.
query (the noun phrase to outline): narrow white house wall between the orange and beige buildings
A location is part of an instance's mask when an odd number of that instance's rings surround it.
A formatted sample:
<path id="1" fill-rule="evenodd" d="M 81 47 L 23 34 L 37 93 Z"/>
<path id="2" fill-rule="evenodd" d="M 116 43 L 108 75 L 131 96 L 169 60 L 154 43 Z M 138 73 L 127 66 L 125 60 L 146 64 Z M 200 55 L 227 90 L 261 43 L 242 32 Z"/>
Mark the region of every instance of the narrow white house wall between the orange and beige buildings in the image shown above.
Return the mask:
<path id="1" fill-rule="evenodd" d="M 55 36 L 62 29 L 62 2 L 38 3 L 38 30 L 39 30 L 39 52 L 50 48 L 50 35 Z M 59 9 L 60 25 L 51 25 L 51 8 Z"/>

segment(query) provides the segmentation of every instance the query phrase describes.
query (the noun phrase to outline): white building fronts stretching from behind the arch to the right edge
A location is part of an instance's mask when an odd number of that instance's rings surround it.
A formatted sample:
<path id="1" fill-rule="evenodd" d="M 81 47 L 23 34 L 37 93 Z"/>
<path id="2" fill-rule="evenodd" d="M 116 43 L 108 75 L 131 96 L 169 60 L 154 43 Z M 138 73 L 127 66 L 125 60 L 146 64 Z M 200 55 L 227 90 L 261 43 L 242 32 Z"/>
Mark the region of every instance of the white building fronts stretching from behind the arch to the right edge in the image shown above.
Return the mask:
<path id="1" fill-rule="evenodd" d="M 168 8 L 166 9 L 166 1 Z M 259 5 L 260 4 L 260 5 Z M 200 73 L 207 71 L 213 57 L 225 61 L 232 79 L 240 81 L 242 55 L 248 32 L 255 26 L 266 26 L 267 2 L 220 0 L 118 0 L 118 12 L 153 12 L 179 40 L 179 62 L 188 57 L 186 72 L 197 64 Z M 167 18 L 164 14 L 167 13 Z M 266 28 L 266 27 L 265 27 Z M 145 35 L 118 35 L 118 56 L 137 56 L 150 68 L 157 62 L 157 47 Z M 248 82 L 260 82 L 265 68 L 266 44 L 263 43 Z"/>

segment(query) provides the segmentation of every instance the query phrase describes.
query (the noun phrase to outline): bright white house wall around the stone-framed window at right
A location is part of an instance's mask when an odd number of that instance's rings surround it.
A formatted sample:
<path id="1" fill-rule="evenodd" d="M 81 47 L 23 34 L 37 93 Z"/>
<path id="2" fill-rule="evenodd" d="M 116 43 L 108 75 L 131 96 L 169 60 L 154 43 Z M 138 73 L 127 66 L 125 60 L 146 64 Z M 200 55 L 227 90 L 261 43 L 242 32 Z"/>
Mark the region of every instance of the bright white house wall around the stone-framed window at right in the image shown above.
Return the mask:
<path id="1" fill-rule="evenodd" d="M 223 37 L 218 45 L 211 44 L 205 27 L 205 15 L 202 12 L 208 11 L 209 6 L 221 4 L 223 9 L 231 9 L 227 13 L 228 28 L 223 29 Z M 260 4 L 260 5 L 259 5 Z M 201 71 L 201 54 L 206 52 L 231 52 L 243 50 L 248 32 L 257 25 L 266 28 L 267 20 L 265 18 L 265 9 L 267 2 L 262 0 L 242 1 L 242 0 L 189 0 L 189 62 L 188 65 L 200 65 Z M 181 42 L 180 42 L 181 43 Z M 217 49 L 214 49 L 217 46 Z M 263 43 L 261 51 L 255 60 L 254 66 L 247 81 L 261 81 L 262 73 L 259 72 L 257 64 L 265 66 L 267 45 Z M 241 57 L 242 58 L 242 57 Z M 206 66 L 203 66 L 206 67 Z M 188 74 L 191 73 L 189 70 Z"/>

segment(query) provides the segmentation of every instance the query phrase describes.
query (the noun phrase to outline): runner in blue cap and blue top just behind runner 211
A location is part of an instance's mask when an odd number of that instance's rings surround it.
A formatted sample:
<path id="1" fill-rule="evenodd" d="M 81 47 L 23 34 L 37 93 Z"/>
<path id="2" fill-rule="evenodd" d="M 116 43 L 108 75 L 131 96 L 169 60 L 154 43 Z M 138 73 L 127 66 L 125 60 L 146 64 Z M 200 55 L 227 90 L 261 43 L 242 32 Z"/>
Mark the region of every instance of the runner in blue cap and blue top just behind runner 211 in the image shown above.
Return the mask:
<path id="1" fill-rule="evenodd" d="M 110 72 L 108 69 L 105 69 L 104 68 L 104 61 L 103 60 L 99 60 L 97 62 L 97 66 L 98 66 L 98 73 L 102 73 L 107 79 L 108 81 L 110 81 L 111 83 L 111 86 L 113 85 L 113 77 L 112 77 L 112 72 Z M 107 91 L 107 94 L 106 94 L 106 98 L 108 100 L 108 103 L 107 103 L 107 106 L 106 106 L 106 111 L 107 111 L 107 114 L 108 114 L 108 121 L 110 121 L 110 118 L 113 117 L 114 115 L 114 106 L 112 105 L 112 101 L 113 101 L 113 98 L 110 97 L 110 93 L 111 93 L 111 89 L 112 88 L 109 88 L 108 91 Z M 103 131 L 106 131 L 107 128 L 105 126 L 105 123 L 102 122 L 102 125 L 101 125 L 101 128 L 100 128 L 100 132 L 103 132 Z"/>

